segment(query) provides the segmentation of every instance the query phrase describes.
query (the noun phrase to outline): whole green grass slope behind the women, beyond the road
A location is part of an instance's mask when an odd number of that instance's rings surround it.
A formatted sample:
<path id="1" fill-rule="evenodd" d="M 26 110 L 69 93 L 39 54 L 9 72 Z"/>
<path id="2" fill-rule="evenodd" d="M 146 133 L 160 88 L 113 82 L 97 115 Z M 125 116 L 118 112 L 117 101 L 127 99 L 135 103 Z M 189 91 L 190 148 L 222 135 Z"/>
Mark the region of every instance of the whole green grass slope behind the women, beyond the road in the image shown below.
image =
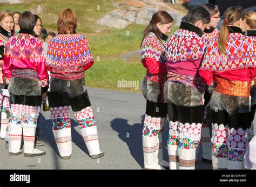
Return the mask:
<path id="1" fill-rule="evenodd" d="M 125 0 L 127 1 L 127 0 Z M 58 14 L 64 8 L 75 10 L 78 17 L 77 32 L 89 40 L 95 64 L 85 72 L 86 85 L 124 92 L 140 92 L 140 89 L 119 88 L 118 81 L 140 81 L 146 69 L 140 63 L 140 56 L 134 56 L 128 61 L 122 57 L 130 51 L 139 50 L 142 32 L 145 26 L 131 24 L 125 29 L 109 29 L 97 24 L 97 20 L 114 10 L 112 4 L 118 0 L 77 0 L 77 1 L 32 1 L 24 0 L 22 4 L 0 3 L 0 10 L 11 12 L 32 11 L 42 18 L 43 26 L 48 31 L 57 33 Z M 122 1 L 124 2 L 124 0 Z M 38 7 L 41 13 L 37 12 Z M 99 8 L 99 10 L 97 10 Z M 172 27 L 171 33 L 178 27 Z"/>

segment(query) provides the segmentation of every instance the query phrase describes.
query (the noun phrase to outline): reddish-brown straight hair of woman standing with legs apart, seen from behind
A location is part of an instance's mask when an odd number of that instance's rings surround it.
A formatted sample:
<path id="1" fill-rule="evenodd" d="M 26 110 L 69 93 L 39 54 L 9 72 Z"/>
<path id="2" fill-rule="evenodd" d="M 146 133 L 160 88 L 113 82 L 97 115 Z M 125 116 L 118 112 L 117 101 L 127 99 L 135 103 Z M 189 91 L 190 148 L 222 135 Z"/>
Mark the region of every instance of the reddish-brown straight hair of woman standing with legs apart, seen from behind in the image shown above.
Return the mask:
<path id="1" fill-rule="evenodd" d="M 77 16 L 72 9 L 64 9 L 59 13 L 57 21 L 59 34 L 72 34 L 77 29 Z"/>

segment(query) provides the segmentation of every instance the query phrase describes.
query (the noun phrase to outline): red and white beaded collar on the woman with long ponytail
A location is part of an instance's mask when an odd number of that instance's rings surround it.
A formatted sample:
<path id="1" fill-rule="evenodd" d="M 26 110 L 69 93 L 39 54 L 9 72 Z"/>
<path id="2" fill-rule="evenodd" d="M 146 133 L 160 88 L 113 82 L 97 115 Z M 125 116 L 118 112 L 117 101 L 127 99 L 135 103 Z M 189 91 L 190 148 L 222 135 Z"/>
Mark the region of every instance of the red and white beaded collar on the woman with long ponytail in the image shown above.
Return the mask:
<path id="1" fill-rule="evenodd" d="M 253 42 L 241 33 L 229 33 L 226 53 L 221 55 L 218 38 L 214 38 L 206 49 L 200 70 L 213 72 L 238 70 L 254 66 L 255 54 Z"/>

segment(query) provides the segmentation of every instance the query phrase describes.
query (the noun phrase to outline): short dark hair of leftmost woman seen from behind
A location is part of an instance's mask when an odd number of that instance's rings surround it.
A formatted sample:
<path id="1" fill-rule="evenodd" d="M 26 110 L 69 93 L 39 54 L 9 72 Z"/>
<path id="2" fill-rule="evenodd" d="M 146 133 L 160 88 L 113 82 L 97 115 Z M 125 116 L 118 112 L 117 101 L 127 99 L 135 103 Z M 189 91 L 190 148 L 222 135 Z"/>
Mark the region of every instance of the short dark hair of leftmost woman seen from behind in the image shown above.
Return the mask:
<path id="1" fill-rule="evenodd" d="M 21 29 L 33 29 L 36 25 L 36 19 L 33 13 L 29 11 L 22 12 L 19 16 L 19 27 Z"/>

